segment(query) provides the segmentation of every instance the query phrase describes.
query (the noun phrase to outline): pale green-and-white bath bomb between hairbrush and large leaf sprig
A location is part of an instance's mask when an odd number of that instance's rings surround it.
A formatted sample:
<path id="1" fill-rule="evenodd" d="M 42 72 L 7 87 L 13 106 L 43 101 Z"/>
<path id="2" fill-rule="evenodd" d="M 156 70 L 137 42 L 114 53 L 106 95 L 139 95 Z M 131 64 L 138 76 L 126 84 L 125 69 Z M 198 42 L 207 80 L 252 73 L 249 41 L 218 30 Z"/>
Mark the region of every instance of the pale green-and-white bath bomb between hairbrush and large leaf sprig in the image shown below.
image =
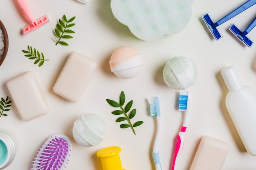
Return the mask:
<path id="1" fill-rule="evenodd" d="M 106 123 L 96 114 L 80 116 L 73 125 L 73 137 L 82 146 L 96 146 L 106 134 Z"/>

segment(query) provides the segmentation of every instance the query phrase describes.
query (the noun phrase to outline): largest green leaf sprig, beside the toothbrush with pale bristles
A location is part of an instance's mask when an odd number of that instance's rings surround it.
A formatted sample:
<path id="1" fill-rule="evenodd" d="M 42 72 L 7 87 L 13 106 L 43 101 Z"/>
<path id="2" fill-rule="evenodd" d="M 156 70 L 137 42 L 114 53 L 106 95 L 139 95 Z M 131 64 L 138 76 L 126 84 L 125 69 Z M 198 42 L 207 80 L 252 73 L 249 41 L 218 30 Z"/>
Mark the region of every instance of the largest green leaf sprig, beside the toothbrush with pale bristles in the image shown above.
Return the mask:
<path id="1" fill-rule="evenodd" d="M 134 131 L 134 127 L 136 126 L 139 126 L 143 123 L 143 121 L 138 121 L 138 122 L 135 122 L 135 124 L 132 125 L 132 123 L 130 122 L 130 119 L 132 119 L 135 115 L 136 115 L 136 109 L 131 109 L 132 107 L 132 100 L 130 102 L 128 102 L 126 104 L 125 107 L 124 106 L 124 103 L 125 103 L 125 94 L 124 92 L 122 91 L 120 96 L 119 96 L 119 102 L 116 102 L 114 100 L 110 100 L 110 99 L 107 99 L 107 102 L 108 104 L 110 104 L 112 107 L 120 107 L 121 110 L 115 110 L 115 111 L 112 111 L 111 113 L 113 115 L 121 115 L 121 114 L 124 114 L 124 117 L 119 117 L 117 118 L 116 122 L 122 122 L 122 121 L 125 121 L 127 120 L 128 124 L 124 123 L 124 124 L 121 124 L 120 125 L 120 128 L 128 128 L 130 127 L 132 129 L 132 132 L 136 135 L 135 131 Z M 127 113 L 130 111 L 130 113 L 127 115 Z"/>

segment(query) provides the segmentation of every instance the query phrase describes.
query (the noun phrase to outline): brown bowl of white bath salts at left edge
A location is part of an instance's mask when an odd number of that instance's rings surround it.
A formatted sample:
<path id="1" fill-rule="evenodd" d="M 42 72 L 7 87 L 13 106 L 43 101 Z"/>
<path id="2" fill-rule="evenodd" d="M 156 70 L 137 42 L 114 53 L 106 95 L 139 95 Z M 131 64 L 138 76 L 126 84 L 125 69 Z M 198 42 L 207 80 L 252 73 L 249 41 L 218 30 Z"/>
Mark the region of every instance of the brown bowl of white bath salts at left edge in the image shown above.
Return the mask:
<path id="1" fill-rule="evenodd" d="M 9 39 L 4 24 L 0 20 L 0 66 L 2 65 L 9 46 Z"/>

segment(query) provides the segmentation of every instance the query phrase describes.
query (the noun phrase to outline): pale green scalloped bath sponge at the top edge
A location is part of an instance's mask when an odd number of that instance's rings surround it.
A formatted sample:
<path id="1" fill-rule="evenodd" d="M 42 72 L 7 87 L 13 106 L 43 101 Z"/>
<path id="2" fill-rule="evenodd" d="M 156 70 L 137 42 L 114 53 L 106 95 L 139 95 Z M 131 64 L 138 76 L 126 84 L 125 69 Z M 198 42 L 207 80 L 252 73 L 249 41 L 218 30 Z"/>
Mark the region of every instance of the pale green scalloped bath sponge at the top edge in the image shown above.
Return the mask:
<path id="1" fill-rule="evenodd" d="M 179 33 L 191 18 L 193 0 L 111 0 L 113 15 L 139 39 Z"/>

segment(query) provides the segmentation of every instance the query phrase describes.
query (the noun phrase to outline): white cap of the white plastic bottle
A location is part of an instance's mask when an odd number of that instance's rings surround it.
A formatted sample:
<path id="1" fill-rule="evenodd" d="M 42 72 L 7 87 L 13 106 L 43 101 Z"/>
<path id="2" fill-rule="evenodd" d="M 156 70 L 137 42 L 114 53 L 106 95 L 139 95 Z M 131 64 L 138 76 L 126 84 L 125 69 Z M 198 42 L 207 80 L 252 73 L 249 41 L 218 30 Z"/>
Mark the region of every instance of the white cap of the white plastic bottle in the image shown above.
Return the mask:
<path id="1" fill-rule="evenodd" d="M 242 81 L 234 66 L 229 66 L 221 70 L 221 75 L 229 90 L 239 89 L 243 86 Z"/>

